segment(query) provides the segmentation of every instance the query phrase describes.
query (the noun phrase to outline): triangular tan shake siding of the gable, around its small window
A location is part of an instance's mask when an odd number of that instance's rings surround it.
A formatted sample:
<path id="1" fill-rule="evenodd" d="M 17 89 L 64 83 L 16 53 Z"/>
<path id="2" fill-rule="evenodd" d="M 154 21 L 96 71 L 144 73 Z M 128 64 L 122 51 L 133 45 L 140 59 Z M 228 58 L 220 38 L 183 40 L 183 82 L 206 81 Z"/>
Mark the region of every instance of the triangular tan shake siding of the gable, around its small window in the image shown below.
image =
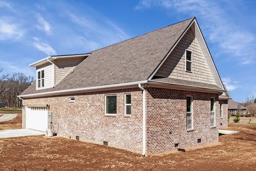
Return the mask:
<path id="1" fill-rule="evenodd" d="M 186 50 L 191 50 L 192 72 L 186 72 Z M 206 84 L 215 84 L 200 46 L 190 28 L 170 56 L 156 73 L 156 76 L 188 80 Z"/>

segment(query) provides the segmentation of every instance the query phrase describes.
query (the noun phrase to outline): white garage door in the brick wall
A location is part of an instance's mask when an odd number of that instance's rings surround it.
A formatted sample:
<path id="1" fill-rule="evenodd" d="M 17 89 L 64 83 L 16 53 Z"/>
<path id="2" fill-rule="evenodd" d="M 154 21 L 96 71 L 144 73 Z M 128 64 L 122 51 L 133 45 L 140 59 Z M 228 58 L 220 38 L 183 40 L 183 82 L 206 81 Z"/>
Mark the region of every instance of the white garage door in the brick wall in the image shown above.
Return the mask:
<path id="1" fill-rule="evenodd" d="M 45 131 L 48 128 L 47 115 L 45 107 L 26 107 L 26 129 Z"/>

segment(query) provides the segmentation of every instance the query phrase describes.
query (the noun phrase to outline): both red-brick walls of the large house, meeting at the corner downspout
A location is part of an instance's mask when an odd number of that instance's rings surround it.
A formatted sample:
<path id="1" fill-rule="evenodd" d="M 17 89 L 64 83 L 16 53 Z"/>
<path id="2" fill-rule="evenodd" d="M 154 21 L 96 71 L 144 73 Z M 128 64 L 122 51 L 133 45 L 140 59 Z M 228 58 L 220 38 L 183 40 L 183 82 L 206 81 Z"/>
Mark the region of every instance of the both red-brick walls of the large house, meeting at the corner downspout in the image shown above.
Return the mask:
<path id="1" fill-rule="evenodd" d="M 124 115 L 125 94 L 132 115 Z M 105 115 L 105 96 L 116 95 L 117 114 Z M 186 129 L 186 96 L 192 96 L 193 129 Z M 71 102 L 70 97 L 75 97 Z M 210 98 L 215 97 L 215 127 L 210 126 Z M 24 105 L 50 105 L 57 135 L 142 153 L 142 91 L 139 88 L 24 99 Z M 24 108 L 24 127 L 26 111 Z M 146 155 L 218 141 L 218 94 L 149 87 L 146 91 Z M 49 121 L 49 120 L 48 120 Z M 49 125 L 49 123 L 48 123 Z M 170 133 L 171 131 L 171 133 Z M 201 139 L 198 143 L 197 140 Z M 178 147 L 174 144 L 178 143 Z"/>

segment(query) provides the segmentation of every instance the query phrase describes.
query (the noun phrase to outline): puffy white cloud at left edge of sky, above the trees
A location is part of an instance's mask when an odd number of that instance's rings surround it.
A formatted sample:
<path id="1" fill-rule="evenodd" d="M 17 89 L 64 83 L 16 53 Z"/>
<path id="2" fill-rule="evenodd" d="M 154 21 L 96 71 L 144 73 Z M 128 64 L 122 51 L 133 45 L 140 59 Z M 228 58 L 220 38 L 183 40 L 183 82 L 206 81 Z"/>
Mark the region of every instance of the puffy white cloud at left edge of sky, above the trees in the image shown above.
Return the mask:
<path id="1" fill-rule="evenodd" d="M 25 33 L 19 24 L 11 21 L 11 18 L 8 17 L 0 19 L 0 40 L 17 40 Z"/>

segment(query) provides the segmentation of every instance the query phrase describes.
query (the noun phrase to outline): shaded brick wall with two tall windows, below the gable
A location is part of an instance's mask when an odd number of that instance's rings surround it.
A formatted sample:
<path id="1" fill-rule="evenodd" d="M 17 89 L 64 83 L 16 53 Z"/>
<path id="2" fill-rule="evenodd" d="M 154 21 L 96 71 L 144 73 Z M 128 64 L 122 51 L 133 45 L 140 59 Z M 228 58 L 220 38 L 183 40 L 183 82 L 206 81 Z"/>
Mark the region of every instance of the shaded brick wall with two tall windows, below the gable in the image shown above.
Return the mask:
<path id="1" fill-rule="evenodd" d="M 186 128 L 186 96 L 192 96 L 191 130 Z M 215 127 L 210 125 L 211 97 L 216 100 Z M 148 155 L 218 141 L 218 94 L 150 87 L 146 101 Z"/>

